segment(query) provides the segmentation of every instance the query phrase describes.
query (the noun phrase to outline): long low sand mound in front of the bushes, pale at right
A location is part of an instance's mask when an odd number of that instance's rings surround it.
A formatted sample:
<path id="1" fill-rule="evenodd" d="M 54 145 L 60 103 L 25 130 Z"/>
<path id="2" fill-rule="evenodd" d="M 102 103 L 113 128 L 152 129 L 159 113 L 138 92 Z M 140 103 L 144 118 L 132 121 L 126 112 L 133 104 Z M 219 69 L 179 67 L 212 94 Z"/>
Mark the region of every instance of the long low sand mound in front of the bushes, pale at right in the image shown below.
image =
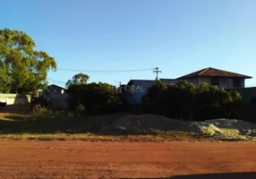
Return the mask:
<path id="1" fill-rule="evenodd" d="M 105 127 L 102 132 L 141 133 L 148 130 L 204 133 L 226 139 L 246 139 L 256 136 L 256 124 L 241 120 L 214 119 L 203 122 L 183 122 L 161 115 L 126 115 Z"/>

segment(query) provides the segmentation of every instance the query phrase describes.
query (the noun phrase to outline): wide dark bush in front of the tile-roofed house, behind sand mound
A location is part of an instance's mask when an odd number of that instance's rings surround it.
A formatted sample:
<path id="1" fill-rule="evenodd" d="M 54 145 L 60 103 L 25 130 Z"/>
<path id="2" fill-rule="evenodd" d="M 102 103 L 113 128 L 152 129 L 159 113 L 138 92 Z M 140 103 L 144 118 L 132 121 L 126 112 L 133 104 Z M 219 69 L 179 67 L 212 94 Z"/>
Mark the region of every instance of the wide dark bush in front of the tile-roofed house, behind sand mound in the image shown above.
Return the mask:
<path id="1" fill-rule="evenodd" d="M 142 99 L 142 107 L 150 113 L 175 119 L 204 120 L 233 118 L 239 115 L 242 98 L 237 91 L 228 92 L 207 83 L 193 85 L 188 81 L 175 84 L 157 83 Z"/>

